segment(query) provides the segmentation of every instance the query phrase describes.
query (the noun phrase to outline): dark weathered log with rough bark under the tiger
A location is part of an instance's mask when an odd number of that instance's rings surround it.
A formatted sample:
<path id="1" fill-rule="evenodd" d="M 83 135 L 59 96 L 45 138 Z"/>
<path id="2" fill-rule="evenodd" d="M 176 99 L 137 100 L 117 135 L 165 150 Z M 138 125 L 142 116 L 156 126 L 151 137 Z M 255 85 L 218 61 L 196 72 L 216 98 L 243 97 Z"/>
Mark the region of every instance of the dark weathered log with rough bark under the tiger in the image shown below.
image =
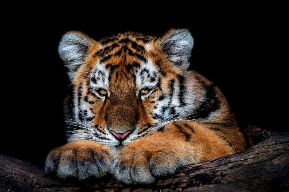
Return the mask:
<path id="1" fill-rule="evenodd" d="M 152 185 L 124 185 L 111 176 L 57 180 L 36 165 L 0 154 L 0 191 L 288 191 L 289 133 L 256 127 L 246 132 L 265 140 L 239 153 L 194 163 Z"/>

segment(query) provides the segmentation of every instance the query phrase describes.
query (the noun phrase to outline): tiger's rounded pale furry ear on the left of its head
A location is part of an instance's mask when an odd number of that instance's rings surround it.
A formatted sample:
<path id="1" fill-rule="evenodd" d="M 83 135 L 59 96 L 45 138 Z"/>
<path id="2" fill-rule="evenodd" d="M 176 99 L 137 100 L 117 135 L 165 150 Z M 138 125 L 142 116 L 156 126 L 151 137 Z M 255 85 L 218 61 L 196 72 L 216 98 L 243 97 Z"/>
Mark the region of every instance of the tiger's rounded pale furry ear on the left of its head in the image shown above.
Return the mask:
<path id="1" fill-rule="evenodd" d="M 59 43 L 58 53 L 70 71 L 76 71 L 87 56 L 88 49 L 95 40 L 80 31 L 68 31 Z"/>

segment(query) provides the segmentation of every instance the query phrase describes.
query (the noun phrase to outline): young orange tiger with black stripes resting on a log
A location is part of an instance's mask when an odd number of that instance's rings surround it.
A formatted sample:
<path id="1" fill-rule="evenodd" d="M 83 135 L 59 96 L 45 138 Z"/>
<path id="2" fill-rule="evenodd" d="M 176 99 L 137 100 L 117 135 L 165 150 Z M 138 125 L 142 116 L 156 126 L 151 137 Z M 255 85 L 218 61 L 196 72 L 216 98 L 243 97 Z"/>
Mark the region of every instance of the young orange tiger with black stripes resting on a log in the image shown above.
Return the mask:
<path id="1" fill-rule="evenodd" d="M 188 29 L 99 41 L 65 33 L 58 53 L 70 80 L 68 143 L 48 153 L 45 172 L 151 184 L 189 164 L 245 150 L 248 141 L 225 96 L 190 69 L 193 45 Z"/>

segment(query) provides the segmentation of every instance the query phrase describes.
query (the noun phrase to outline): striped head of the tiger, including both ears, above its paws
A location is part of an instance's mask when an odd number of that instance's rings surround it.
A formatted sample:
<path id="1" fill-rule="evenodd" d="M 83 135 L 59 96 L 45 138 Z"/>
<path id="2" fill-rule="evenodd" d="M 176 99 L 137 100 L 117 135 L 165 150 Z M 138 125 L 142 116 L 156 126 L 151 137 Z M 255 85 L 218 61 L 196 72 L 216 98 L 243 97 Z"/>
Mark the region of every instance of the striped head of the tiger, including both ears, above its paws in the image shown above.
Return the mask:
<path id="1" fill-rule="evenodd" d="M 193 44 L 188 29 L 100 41 L 79 31 L 64 34 L 58 52 L 71 81 L 64 107 L 68 141 L 125 145 L 190 116 L 198 99 L 188 70 Z"/>

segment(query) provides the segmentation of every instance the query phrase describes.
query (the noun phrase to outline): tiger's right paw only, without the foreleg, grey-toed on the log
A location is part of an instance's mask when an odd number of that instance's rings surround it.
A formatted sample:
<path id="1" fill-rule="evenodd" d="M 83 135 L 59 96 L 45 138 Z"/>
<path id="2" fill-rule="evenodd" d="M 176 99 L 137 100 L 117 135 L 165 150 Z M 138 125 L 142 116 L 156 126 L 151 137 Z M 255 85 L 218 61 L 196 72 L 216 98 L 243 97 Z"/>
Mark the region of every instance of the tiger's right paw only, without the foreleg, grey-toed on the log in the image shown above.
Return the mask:
<path id="1" fill-rule="evenodd" d="M 118 181 L 126 184 L 150 184 L 156 178 L 174 174 L 188 164 L 170 148 L 124 147 L 112 163 L 112 171 Z"/>

